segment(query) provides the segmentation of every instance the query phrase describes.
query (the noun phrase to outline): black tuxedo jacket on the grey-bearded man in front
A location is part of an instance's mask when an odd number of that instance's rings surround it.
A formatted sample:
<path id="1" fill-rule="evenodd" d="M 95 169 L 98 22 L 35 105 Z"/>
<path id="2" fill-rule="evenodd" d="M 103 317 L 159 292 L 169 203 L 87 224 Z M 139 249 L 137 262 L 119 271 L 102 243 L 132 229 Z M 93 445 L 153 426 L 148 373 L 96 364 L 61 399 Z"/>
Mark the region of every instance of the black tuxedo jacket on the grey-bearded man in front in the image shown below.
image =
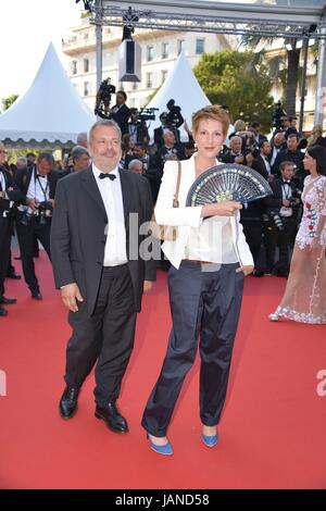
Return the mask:
<path id="1" fill-rule="evenodd" d="M 123 195 L 127 258 L 134 287 L 135 304 L 140 311 L 143 281 L 155 279 L 155 261 L 130 258 L 129 236 L 138 249 L 146 238 L 139 234 L 139 226 L 152 216 L 151 191 L 147 179 L 129 171 L 120 170 Z M 130 225 L 130 213 L 138 213 L 136 225 Z M 51 254 L 55 285 L 77 283 L 87 313 L 90 316 L 97 301 L 104 248 L 106 241 L 105 208 L 91 166 L 60 179 L 55 194 L 51 227 Z M 137 229 L 137 232 L 136 232 Z M 135 242 L 136 240 L 136 242 Z"/>

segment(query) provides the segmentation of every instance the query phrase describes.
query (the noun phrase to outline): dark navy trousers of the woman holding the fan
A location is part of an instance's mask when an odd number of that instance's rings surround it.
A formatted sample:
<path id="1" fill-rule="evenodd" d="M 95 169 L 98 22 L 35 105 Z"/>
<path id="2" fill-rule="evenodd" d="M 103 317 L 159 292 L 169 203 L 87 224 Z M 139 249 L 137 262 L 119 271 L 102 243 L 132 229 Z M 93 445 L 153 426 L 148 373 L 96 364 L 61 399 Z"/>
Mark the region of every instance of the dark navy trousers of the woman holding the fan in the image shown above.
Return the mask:
<path id="1" fill-rule="evenodd" d="M 223 264 L 217 270 L 217 265 L 190 261 L 183 261 L 179 270 L 171 266 L 168 291 L 173 327 L 162 371 L 141 423 L 151 435 L 166 435 L 185 376 L 195 362 L 198 336 L 200 417 L 208 426 L 218 423 L 243 290 L 243 273 L 236 273 L 237 267 L 238 264 Z"/>

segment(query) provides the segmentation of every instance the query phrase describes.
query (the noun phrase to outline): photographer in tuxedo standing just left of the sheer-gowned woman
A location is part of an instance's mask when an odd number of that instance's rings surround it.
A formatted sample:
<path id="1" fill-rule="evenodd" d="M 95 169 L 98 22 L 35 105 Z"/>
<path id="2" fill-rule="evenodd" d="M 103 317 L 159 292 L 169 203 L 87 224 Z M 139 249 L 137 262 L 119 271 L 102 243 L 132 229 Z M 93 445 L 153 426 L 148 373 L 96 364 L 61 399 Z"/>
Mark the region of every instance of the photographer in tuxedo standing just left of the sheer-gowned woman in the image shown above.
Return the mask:
<path id="1" fill-rule="evenodd" d="M 265 199 L 269 224 L 265 230 L 266 263 L 268 273 L 287 277 L 290 267 L 290 248 L 297 232 L 300 204 L 300 190 L 293 182 L 294 165 L 284 161 L 280 177 L 271 183 L 273 197 Z M 279 259 L 275 263 L 275 249 L 279 248 Z"/>

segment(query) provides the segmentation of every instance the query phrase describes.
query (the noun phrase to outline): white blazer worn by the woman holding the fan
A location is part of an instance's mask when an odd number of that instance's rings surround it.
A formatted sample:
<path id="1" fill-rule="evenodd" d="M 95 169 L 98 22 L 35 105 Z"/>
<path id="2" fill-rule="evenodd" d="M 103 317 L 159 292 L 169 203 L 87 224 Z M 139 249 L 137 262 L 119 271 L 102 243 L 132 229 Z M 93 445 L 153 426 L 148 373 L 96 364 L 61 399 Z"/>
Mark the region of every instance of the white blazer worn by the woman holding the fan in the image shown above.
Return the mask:
<path id="1" fill-rule="evenodd" d="M 178 236 L 175 241 L 164 241 L 162 250 L 178 269 L 185 259 L 185 249 L 188 244 L 191 227 L 199 227 L 202 223 L 202 207 L 186 207 L 188 191 L 196 179 L 195 167 L 196 154 L 189 160 L 181 161 L 181 180 L 179 187 L 179 208 L 173 208 L 173 198 L 177 183 L 178 165 L 176 161 L 167 161 L 164 165 L 163 178 L 155 205 L 155 220 L 161 225 L 178 226 Z M 218 165 L 216 160 L 216 165 Z M 223 223 L 229 223 L 233 245 L 240 265 L 253 265 L 252 254 L 246 241 L 242 225 L 239 223 L 239 212 L 237 216 L 218 216 Z"/>

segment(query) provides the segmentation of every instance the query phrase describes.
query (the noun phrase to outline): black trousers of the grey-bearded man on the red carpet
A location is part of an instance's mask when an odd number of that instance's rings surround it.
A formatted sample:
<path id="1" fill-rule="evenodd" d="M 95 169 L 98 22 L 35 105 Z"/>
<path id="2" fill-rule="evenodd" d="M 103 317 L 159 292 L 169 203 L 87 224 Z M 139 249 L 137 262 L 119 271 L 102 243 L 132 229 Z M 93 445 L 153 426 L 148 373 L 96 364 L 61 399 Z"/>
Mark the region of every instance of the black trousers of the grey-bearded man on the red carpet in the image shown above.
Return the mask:
<path id="1" fill-rule="evenodd" d="M 136 316 L 127 264 L 103 267 L 95 312 L 87 315 L 86 300 L 70 312 L 73 335 L 66 349 L 65 382 L 80 387 L 96 366 L 96 401 L 100 407 L 120 396 L 134 347 Z"/>

